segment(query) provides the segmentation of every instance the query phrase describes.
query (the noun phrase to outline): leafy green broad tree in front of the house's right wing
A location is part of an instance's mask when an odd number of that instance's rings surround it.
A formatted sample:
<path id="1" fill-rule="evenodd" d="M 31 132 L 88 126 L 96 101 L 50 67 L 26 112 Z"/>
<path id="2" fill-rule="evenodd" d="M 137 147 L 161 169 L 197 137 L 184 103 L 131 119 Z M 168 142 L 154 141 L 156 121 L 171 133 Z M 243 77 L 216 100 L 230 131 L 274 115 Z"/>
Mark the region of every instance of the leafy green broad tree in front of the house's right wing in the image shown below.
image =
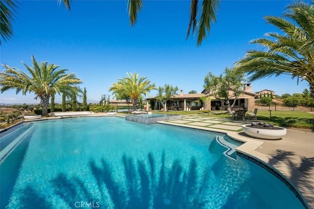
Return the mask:
<path id="1" fill-rule="evenodd" d="M 228 108 L 233 108 L 236 98 L 244 92 L 242 87 L 244 81 L 243 73 L 226 68 L 219 76 L 209 72 L 204 79 L 204 88 L 208 89 L 216 99 L 223 98 Z M 234 102 L 230 106 L 232 97 L 234 97 Z"/>

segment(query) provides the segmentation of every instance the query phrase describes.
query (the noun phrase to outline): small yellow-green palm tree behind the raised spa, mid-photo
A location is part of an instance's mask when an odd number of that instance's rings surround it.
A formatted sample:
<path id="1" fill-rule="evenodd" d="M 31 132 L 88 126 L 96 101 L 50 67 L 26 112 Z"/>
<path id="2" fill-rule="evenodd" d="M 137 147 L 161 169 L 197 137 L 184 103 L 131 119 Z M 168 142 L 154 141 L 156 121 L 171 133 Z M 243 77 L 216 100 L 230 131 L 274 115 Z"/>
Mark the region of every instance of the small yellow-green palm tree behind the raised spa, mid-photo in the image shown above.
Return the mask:
<path id="1" fill-rule="evenodd" d="M 116 95 L 129 96 L 132 100 L 133 108 L 136 109 L 136 103 L 141 95 L 147 95 L 151 90 L 156 90 L 155 83 L 147 80 L 147 77 L 138 77 L 139 74 L 134 72 L 128 73 L 127 77 L 118 79 L 117 83 L 113 83 L 109 88 L 109 92 Z"/>

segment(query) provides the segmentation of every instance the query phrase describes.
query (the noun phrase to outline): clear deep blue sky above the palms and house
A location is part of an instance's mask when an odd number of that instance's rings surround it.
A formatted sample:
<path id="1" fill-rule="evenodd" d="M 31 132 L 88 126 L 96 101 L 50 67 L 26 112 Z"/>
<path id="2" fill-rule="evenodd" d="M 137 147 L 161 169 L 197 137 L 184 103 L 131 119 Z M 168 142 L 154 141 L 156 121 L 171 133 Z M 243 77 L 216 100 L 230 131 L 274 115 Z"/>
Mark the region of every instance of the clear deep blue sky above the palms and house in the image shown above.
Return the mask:
<path id="1" fill-rule="evenodd" d="M 0 63 L 26 70 L 31 55 L 69 69 L 83 80 L 87 99 L 98 102 L 101 94 L 126 72 L 137 72 L 156 86 L 178 86 L 184 93 L 203 90 L 209 71 L 220 74 L 242 58 L 252 39 L 266 32 L 277 32 L 264 16 L 280 16 L 291 1 L 224 0 L 217 23 L 200 47 L 196 37 L 185 41 L 190 1 L 146 0 L 135 27 L 130 26 L 125 0 L 73 0 L 71 11 L 57 0 L 19 1 L 14 37 L 1 46 Z M 264 89 L 276 94 L 302 93 L 303 81 L 288 75 L 270 77 L 252 83 L 253 92 Z M 150 93 L 155 96 L 156 91 Z M 0 94 L 0 103 L 39 103 L 33 94 Z M 112 96 L 110 96 L 112 98 Z M 57 96 L 56 102 L 61 101 Z"/>

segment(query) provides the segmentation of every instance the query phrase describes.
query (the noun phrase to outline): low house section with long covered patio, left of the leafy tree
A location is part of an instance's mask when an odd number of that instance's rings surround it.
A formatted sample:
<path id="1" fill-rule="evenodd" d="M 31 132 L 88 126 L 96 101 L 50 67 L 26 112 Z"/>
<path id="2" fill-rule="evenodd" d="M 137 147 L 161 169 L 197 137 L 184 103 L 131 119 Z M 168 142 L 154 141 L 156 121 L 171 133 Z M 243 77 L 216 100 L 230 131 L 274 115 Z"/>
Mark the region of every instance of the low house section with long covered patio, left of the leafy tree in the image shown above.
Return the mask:
<path id="1" fill-rule="evenodd" d="M 173 95 L 167 101 L 167 110 L 199 110 L 202 108 L 202 102 L 200 101 L 202 96 L 204 96 L 204 93 L 184 94 L 183 90 L 180 90 L 179 94 Z M 147 98 L 147 105 L 148 103 L 151 104 L 152 110 L 161 110 L 163 108 L 161 102 L 156 97 Z"/>

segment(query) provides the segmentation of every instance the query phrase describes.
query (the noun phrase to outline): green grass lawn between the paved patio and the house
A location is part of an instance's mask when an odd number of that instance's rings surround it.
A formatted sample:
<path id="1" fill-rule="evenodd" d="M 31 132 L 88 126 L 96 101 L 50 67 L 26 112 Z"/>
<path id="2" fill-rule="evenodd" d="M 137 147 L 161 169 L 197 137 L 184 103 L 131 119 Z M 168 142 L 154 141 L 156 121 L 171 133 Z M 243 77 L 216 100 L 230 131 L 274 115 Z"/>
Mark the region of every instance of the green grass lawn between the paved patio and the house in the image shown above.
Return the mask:
<path id="1" fill-rule="evenodd" d="M 210 111 L 209 114 L 201 113 L 200 111 L 153 111 L 154 113 L 161 114 L 177 114 L 177 115 L 190 115 L 190 114 L 202 114 L 202 116 L 210 117 L 228 117 L 225 111 Z M 249 111 L 248 113 L 253 113 Z M 305 128 L 314 130 L 314 114 L 302 112 L 302 111 L 271 111 L 271 120 L 269 111 L 258 111 L 257 119 L 263 120 L 268 123 L 273 123 L 277 126 Z"/>

